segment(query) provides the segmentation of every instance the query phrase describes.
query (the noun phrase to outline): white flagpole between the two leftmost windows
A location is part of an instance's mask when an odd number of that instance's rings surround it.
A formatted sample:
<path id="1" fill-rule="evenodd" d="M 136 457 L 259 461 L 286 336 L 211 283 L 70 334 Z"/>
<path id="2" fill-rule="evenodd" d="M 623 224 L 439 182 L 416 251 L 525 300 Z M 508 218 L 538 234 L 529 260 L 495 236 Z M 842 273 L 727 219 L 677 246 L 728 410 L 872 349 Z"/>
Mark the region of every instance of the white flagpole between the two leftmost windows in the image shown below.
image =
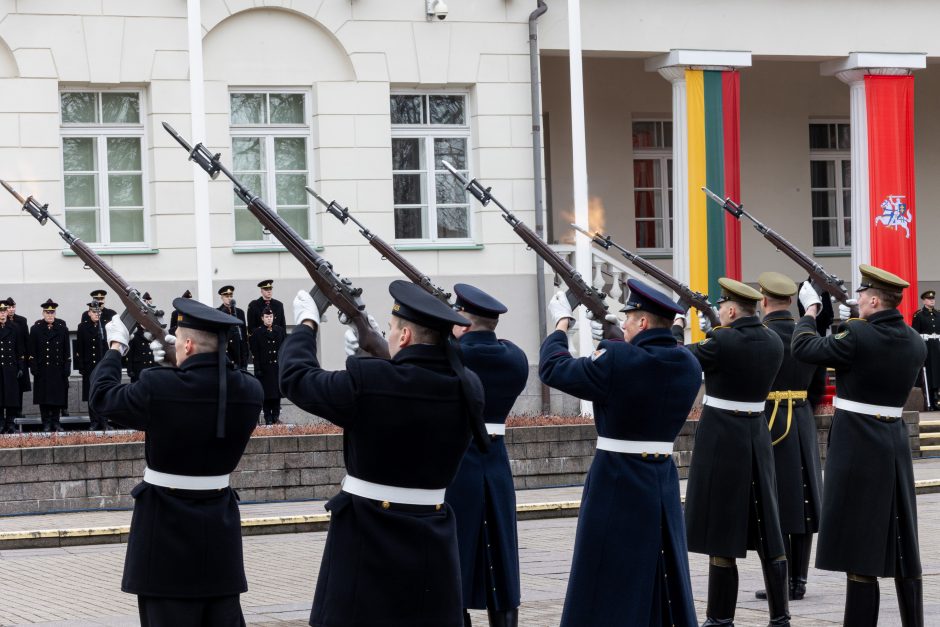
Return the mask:
<path id="1" fill-rule="evenodd" d="M 187 0 L 186 25 L 189 40 L 190 141 L 206 141 L 206 98 L 202 74 L 202 10 L 200 0 Z M 209 222 L 209 177 L 193 164 L 193 219 L 196 234 L 196 298 L 211 305 L 212 240 Z"/>

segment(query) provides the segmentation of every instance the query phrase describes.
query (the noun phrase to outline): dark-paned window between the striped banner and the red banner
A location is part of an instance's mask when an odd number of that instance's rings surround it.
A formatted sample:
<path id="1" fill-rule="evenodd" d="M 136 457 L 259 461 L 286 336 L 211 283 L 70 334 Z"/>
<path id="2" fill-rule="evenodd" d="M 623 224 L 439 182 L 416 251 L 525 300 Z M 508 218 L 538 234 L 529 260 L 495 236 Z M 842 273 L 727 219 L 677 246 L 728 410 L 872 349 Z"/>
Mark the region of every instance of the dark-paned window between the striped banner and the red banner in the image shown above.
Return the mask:
<path id="1" fill-rule="evenodd" d="M 813 248 L 848 251 L 852 246 L 851 129 L 847 122 L 809 125 L 809 173 Z"/>

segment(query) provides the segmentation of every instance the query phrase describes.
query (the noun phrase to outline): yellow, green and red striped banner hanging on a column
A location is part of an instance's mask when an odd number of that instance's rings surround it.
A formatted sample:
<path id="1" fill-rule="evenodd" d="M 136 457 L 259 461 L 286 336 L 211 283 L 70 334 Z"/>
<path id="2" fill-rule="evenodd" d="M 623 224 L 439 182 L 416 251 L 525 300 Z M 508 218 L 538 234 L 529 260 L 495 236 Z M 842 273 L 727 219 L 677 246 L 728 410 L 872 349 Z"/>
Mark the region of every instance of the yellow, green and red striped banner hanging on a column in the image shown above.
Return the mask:
<path id="1" fill-rule="evenodd" d="M 702 187 L 741 202 L 740 81 L 736 71 L 686 70 L 689 129 L 689 283 L 711 300 L 718 278 L 741 278 L 741 225 Z"/>

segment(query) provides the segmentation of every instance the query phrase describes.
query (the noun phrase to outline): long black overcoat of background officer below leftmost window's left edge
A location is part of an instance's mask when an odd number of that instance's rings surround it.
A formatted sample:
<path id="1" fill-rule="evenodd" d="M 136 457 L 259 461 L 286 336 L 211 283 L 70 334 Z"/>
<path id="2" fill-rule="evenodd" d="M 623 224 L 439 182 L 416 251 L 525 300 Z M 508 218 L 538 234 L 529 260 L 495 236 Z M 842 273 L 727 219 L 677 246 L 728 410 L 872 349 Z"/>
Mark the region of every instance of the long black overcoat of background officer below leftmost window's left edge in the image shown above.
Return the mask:
<path id="1" fill-rule="evenodd" d="M 69 328 L 56 318 L 52 325 L 37 320 L 29 330 L 30 369 L 33 372 L 33 402 L 65 407 L 69 400 L 72 347 Z"/>

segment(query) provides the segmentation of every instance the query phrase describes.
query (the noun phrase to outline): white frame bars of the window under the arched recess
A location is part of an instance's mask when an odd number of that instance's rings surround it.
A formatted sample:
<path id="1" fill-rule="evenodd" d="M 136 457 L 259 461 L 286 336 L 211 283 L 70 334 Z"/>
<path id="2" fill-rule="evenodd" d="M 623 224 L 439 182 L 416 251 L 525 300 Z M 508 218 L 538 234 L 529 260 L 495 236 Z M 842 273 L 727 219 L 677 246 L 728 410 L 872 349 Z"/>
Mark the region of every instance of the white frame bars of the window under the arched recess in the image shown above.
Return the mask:
<path id="1" fill-rule="evenodd" d="M 277 170 L 275 168 L 275 154 L 274 154 L 274 140 L 280 137 L 303 137 L 306 140 L 306 158 L 307 158 L 307 175 L 305 185 L 312 185 L 311 175 L 314 172 L 314 156 L 315 152 L 313 149 L 313 123 L 312 123 L 312 93 L 309 89 L 304 89 L 301 87 L 232 87 L 228 89 L 228 134 L 229 134 L 229 154 L 232 155 L 232 171 L 235 171 L 234 155 L 235 155 L 235 145 L 234 139 L 236 137 L 259 137 L 262 139 L 262 149 L 263 149 L 263 163 L 265 165 L 266 171 L 263 178 L 263 188 L 258 190 L 251 190 L 254 193 L 262 197 L 271 209 L 277 213 Z M 284 124 L 284 123 L 265 123 L 265 124 L 233 124 L 232 123 L 232 95 L 233 94 L 266 94 L 270 97 L 270 94 L 301 94 L 304 97 L 304 113 L 303 113 L 303 123 L 302 124 Z M 266 107 L 268 115 L 270 115 L 270 106 Z M 285 171 L 287 173 L 295 172 L 293 170 Z M 264 195 L 262 195 L 264 191 Z M 270 198 L 274 196 L 274 201 L 271 202 Z M 316 208 L 311 202 L 312 198 L 306 191 L 304 191 L 307 199 L 307 237 L 304 241 L 308 244 L 316 246 L 317 236 L 319 235 L 319 230 L 317 227 L 316 220 Z M 233 194 L 234 197 L 234 194 Z M 278 250 L 282 248 L 282 244 L 275 238 L 267 229 L 264 228 L 260 223 L 258 224 L 261 229 L 261 239 L 252 239 L 252 240 L 240 240 L 238 239 L 238 231 L 235 224 L 235 211 L 237 209 L 237 203 L 232 203 L 232 245 L 238 248 L 241 251 L 251 250 L 251 249 L 270 249 L 272 246 L 277 247 Z M 247 211 L 247 209 L 246 209 Z"/>

